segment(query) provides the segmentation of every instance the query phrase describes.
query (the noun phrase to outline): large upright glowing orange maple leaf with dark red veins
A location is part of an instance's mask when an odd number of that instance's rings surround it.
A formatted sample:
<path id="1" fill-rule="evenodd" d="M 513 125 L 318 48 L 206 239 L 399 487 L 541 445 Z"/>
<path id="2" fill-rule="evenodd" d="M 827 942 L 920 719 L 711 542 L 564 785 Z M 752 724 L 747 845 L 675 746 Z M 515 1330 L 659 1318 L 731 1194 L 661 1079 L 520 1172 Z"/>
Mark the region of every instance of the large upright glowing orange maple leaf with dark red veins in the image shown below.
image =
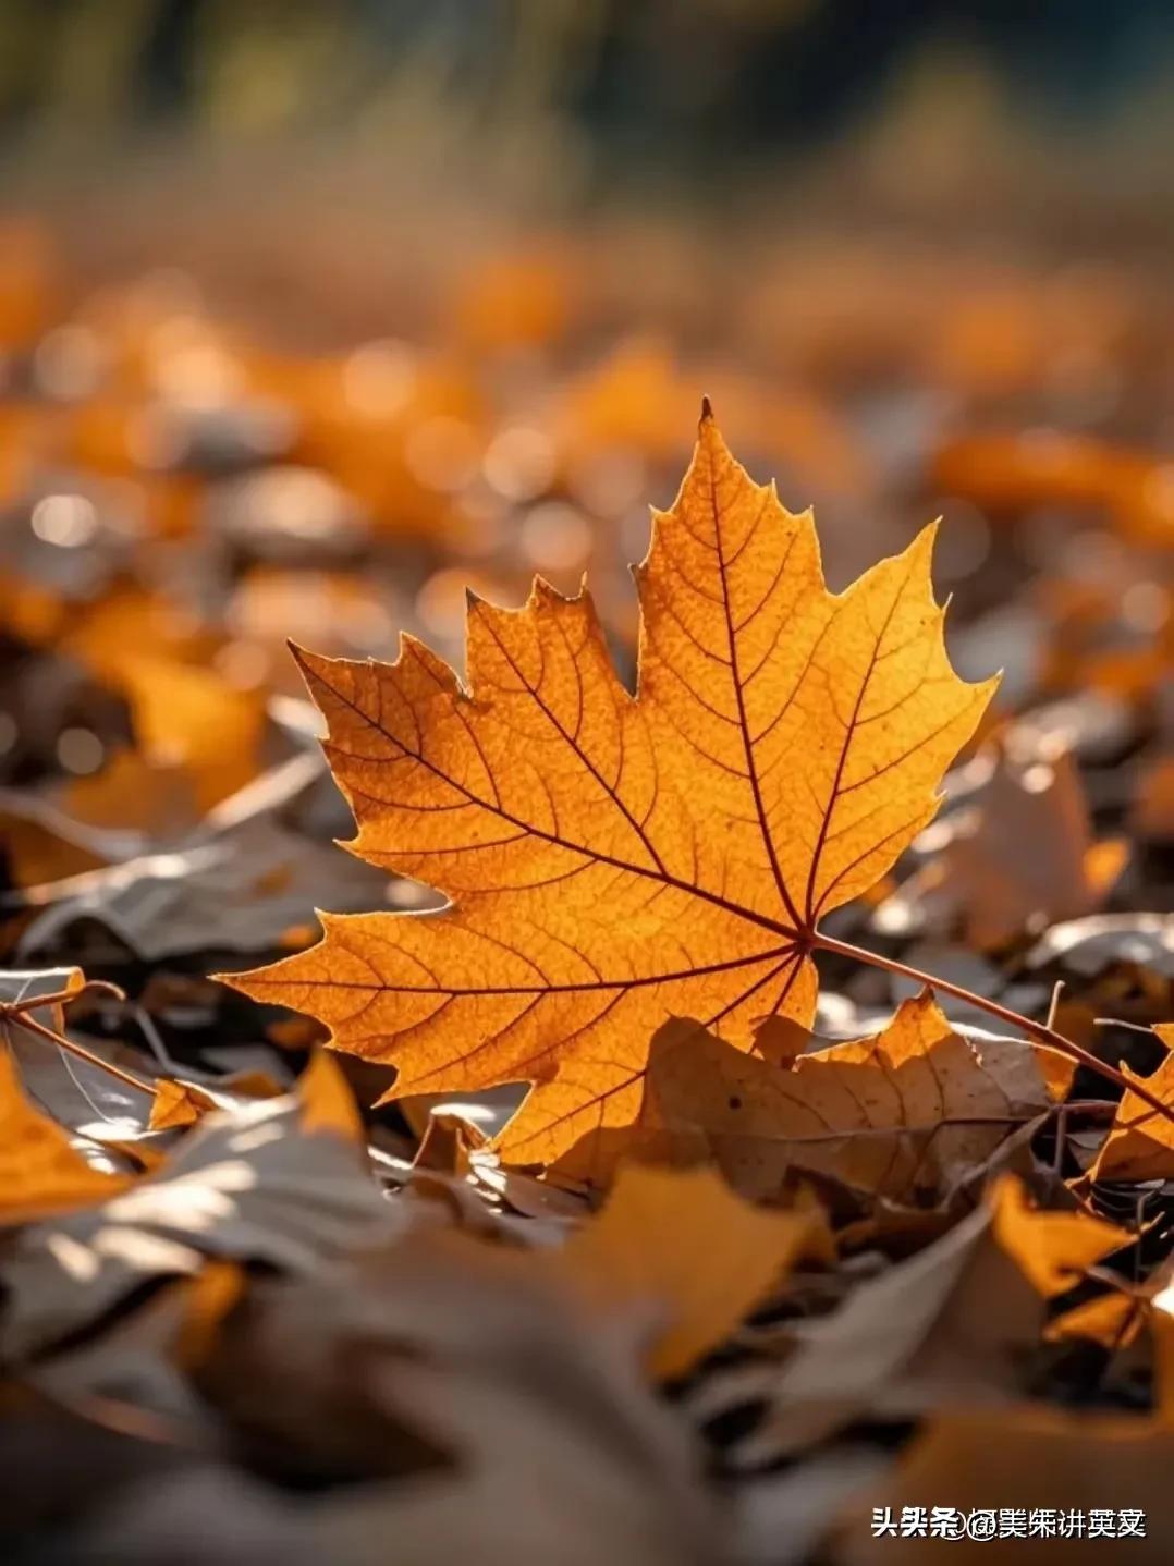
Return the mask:
<path id="1" fill-rule="evenodd" d="M 931 542 L 828 592 L 811 514 L 706 406 L 637 570 L 636 695 L 587 592 L 542 579 L 470 600 L 466 687 L 407 636 L 391 666 L 299 653 L 351 847 L 451 905 L 324 915 L 319 946 L 225 977 L 394 1065 L 391 1096 L 531 1082 L 501 1138 L 528 1164 L 634 1121 L 670 1016 L 742 1051 L 806 1026 L 817 921 L 930 821 L 994 686 L 950 667 Z"/>

